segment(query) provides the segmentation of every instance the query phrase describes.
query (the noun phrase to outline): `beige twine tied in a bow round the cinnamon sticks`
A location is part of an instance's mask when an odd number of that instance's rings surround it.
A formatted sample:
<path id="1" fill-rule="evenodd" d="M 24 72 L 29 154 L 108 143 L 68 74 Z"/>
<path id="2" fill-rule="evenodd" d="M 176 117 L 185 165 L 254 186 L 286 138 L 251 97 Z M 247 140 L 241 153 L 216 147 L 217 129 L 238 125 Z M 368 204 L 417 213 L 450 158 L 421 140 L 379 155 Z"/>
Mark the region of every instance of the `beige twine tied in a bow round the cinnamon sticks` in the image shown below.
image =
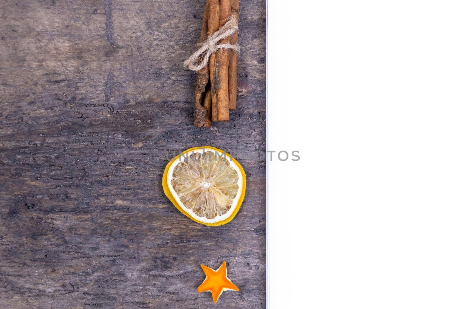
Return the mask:
<path id="1" fill-rule="evenodd" d="M 193 71 L 198 71 L 206 67 L 209 61 L 209 56 L 219 50 L 220 48 L 227 48 L 234 51 L 239 51 L 240 46 L 238 44 L 218 44 L 223 38 L 231 36 L 234 32 L 238 31 L 237 21 L 233 16 L 226 22 L 225 25 L 219 28 L 218 31 L 214 32 L 213 35 L 208 36 L 205 41 L 198 44 L 200 47 L 193 53 L 186 61 L 184 61 L 184 67 L 188 67 Z M 200 59 L 201 62 L 200 62 Z"/>

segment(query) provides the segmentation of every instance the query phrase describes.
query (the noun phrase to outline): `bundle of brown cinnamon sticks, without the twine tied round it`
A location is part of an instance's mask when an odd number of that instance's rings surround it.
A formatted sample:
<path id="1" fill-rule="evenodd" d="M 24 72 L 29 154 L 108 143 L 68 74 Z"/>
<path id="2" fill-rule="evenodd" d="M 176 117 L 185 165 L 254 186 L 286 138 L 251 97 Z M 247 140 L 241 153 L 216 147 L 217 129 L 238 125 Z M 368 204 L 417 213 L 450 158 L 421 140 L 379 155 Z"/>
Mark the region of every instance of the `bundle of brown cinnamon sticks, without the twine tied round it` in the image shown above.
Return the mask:
<path id="1" fill-rule="evenodd" d="M 201 26 L 200 43 L 218 31 L 228 20 L 238 21 L 238 0 L 207 0 Z M 236 44 L 238 32 L 219 44 Z M 229 120 L 229 110 L 237 102 L 237 51 L 219 48 L 209 56 L 209 63 L 197 71 L 193 125 L 210 127 L 212 121 Z"/>

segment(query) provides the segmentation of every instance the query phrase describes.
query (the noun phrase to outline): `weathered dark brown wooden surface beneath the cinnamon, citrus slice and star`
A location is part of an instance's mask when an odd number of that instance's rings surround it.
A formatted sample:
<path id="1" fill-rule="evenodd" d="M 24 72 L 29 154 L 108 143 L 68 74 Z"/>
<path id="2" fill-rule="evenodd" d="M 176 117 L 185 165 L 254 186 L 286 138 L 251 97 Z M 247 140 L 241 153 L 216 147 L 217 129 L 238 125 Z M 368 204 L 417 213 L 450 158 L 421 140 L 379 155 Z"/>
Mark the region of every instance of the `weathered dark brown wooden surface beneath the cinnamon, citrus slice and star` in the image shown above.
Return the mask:
<path id="1" fill-rule="evenodd" d="M 265 1 L 240 1 L 237 110 L 211 129 L 181 65 L 205 3 L 1 1 L 1 308 L 265 307 Z M 221 227 L 162 191 L 167 151 L 198 145 L 247 174 Z M 223 260 L 240 292 L 214 305 L 200 264 Z"/>

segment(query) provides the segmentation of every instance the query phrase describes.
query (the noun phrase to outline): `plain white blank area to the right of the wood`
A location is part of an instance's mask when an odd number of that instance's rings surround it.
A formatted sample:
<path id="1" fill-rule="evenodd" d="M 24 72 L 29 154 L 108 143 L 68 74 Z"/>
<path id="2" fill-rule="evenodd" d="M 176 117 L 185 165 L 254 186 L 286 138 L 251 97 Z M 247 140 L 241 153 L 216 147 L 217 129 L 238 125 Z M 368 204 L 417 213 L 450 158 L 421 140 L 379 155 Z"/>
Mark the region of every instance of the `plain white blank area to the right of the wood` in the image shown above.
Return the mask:
<path id="1" fill-rule="evenodd" d="M 268 308 L 464 308 L 463 13 L 268 1 Z"/>

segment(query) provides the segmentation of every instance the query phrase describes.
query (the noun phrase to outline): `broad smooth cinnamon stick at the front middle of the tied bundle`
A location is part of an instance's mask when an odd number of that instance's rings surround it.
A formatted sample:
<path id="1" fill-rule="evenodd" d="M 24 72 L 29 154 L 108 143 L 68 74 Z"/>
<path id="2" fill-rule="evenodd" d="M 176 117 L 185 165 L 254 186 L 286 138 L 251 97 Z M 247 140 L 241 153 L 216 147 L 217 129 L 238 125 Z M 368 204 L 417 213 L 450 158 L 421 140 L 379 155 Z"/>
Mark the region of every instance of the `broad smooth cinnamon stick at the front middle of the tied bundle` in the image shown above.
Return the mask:
<path id="1" fill-rule="evenodd" d="M 219 27 L 226 24 L 227 20 L 232 16 L 232 0 L 219 0 Z M 219 44 L 230 44 L 231 37 L 223 38 Z M 226 48 L 221 48 L 215 52 L 216 54 L 216 67 L 214 72 L 214 80 L 217 81 L 215 85 L 216 93 L 216 108 L 217 120 L 229 120 L 229 59 L 231 51 Z M 214 112 L 213 112 L 214 116 Z M 213 118 L 214 120 L 214 118 Z"/>

